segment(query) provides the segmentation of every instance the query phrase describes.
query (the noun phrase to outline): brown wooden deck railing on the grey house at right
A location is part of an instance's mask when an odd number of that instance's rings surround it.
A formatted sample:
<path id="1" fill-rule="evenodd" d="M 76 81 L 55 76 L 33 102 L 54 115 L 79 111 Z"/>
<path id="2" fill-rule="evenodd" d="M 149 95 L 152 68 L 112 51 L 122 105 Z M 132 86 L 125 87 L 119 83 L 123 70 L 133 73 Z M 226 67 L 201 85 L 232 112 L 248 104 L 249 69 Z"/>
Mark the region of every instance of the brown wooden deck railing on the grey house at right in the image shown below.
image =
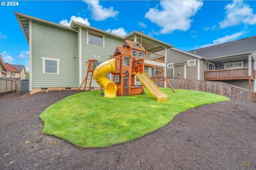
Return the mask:
<path id="1" fill-rule="evenodd" d="M 249 76 L 249 71 L 252 76 Z M 250 77 L 255 80 L 255 70 L 248 67 L 204 71 L 204 80 L 238 80 Z"/>

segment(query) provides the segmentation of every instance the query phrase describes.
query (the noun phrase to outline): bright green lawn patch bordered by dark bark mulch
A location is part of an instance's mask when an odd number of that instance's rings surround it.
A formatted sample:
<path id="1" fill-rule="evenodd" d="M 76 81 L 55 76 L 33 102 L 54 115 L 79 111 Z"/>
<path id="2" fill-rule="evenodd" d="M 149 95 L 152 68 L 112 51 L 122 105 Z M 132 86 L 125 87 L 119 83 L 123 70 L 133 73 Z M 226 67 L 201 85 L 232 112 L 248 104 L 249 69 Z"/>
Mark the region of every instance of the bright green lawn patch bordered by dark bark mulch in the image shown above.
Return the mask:
<path id="1" fill-rule="evenodd" d="M 69 96 L 40 115 L 43 133 L 81 148 L 108 147 L 155 131 L 187 109 L 229 100 L 192 90 L 161 90 L 168 95 L 165 102 L 157 102 L 146 89 L 146 95 L 117 98 L 104 98 L 98 90 Z"/>

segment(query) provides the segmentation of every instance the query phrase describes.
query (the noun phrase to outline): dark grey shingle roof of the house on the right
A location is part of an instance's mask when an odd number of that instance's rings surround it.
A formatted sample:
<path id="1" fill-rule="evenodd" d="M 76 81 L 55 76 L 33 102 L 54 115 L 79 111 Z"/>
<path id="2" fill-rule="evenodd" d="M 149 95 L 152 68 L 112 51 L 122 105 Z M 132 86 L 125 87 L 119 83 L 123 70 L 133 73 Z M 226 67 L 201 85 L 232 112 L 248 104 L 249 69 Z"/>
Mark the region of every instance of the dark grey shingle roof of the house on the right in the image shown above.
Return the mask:
<path id="1" fill-rule="evenodd" d="M 188 52 L 192 54 L 196 52 L 196 55 L 211 59 L 241 53 L 252 53 L 254 51 L 256 51 L 256 35 Z"/>

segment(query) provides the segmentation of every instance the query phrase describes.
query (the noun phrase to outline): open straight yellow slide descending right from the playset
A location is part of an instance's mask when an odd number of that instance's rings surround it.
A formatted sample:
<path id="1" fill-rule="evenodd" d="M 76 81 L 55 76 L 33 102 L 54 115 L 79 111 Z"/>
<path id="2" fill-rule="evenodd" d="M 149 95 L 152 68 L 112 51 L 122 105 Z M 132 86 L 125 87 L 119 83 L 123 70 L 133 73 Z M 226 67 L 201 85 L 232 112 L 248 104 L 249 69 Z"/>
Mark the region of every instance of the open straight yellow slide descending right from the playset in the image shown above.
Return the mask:
<path id="1" fill-rule="evenodd" d="M 135 74 L 140 82 L 144 84 L 144 86 L 148 89 L 148 91 L 150 91 L 150 93 L 157 98 L 158 102 L 163 102 L 167 100 L 167 95 L 162 92 L 158 88 L 158 86 L 156 86 L 156 84 L 152 80 L 150 80 L 150 78 L 148 78 L 145 73 L 141 74 L 140 72 L 134 72 L 133 74 Z"/>

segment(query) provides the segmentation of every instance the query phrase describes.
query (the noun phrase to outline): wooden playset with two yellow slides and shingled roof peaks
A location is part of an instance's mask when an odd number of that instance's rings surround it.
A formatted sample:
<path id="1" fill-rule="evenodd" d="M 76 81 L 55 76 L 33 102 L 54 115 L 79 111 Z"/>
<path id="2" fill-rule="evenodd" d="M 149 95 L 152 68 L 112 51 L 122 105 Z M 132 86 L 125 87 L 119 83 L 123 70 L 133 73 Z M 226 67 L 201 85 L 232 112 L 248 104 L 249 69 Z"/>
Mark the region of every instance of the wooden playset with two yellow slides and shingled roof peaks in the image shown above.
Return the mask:
<path id="1" fill-rule="evenodd" d="M 167 100 L 167 95 L 144 73 L 145 56 L 146 50 L 139 42 L 125 40 L 122 47 L 116 47 L 113 57 L 109 58 L 108 61 L 100 64 L 96 60 L 89 60 L 86 78 L 82 82 L 82 84 L 85 82 L 84 90 L 86 89 L 88 75 L 91 73 L 94 80 L 105 89 L 104 96 L 107 98 L 115 98 L 116 95 L 139 95 L 144 91 L 143 86 L 146 86 L 150 93 L 157 98 L 158 102 Z M 97 66 L 97 64 L 99 65 Z M 162 73 L 161 68 L 159 69 L 159 73 Z M 106 77 L 108 73 L 113 75 L 113 81 Z M 135 84 L 136 77 L 142 83 L 141 86 Z M 164 74 L 163 77 L 164 80 L 168 82 Z M 90 79 L 89 90 L 91 82 L 92 78 Z M 169 82 L 168 84 L 172 88 Z"/>

